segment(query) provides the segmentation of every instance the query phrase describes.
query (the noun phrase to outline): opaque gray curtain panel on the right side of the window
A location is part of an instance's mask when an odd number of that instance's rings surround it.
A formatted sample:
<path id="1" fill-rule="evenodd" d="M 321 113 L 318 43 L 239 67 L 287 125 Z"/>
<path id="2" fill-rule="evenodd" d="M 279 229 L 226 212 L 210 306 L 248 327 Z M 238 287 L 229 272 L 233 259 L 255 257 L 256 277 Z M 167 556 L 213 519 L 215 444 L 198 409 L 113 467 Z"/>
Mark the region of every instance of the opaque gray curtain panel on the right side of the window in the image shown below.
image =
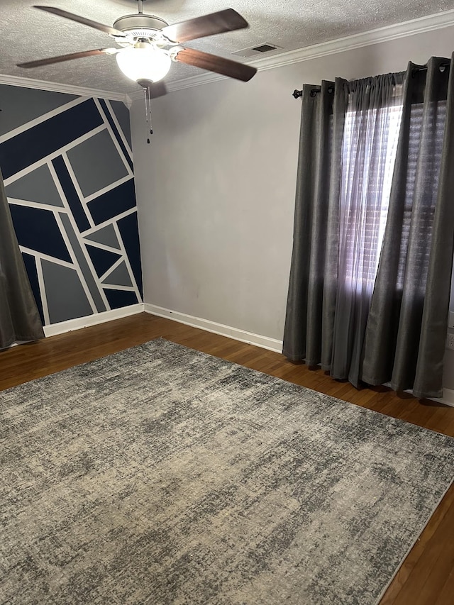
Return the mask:
<path id="1" fill-rule="evenodd" d="M 442 396 L 454 240 L 452 59 L 409 64 L 362 378 Z"/>

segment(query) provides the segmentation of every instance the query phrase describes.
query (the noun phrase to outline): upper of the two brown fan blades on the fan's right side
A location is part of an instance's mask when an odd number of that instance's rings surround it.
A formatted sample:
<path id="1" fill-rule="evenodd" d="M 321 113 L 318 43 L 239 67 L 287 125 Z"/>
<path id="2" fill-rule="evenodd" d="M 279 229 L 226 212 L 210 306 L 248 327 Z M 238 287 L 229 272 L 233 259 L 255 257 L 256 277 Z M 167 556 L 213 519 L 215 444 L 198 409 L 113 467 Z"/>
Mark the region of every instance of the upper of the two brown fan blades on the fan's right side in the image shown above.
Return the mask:
<path id="1" fill-rule="evenodd" d="M 172 42 L 187 42 L 196 38 L 204 38 L 206 35 L 223 33 L 236 29 L 247 28 L 248 22 L 233 9 L 218 11 L 202 17 L 174 23 L 162 28 L 162 33 Z"/>

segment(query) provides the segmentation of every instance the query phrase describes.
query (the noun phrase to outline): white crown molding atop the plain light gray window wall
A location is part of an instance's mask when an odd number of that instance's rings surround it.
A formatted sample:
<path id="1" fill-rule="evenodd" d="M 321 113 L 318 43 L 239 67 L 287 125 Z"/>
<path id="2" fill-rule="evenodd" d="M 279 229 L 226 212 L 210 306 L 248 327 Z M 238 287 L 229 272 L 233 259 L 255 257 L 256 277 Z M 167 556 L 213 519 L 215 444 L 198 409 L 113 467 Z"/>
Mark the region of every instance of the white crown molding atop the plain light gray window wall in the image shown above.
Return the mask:
<path id="1" fill-rule="evenodd" d="M 336 40 L 329 40 L 328 42 L 322 42 L 296 50 L 280 52 L 278 55 L 273 54 L 270 57 L 261 57 L 260 59 L 246 61 L 245 63 L 257 67 L 258 71 L 261 72 L 272 70 L 275 67 L 284 67 L 285 65 L 309 61 L 326 55 L 335 55 L 337 52 L 343 52 L 345 50 L 354 50 L 355 48 L 389 42 L 390 40 L 396 40 L 397 38 L 406 38 L 410 35 L 450 26 L 454 26 L 454 10 L 443 11 L 443 13 L 420 17 L 402 23 L 395 23 L 391 26 L 373 29 L 363 33 L 355 33 L 353 35 L 345 36 L 344 38 L 337 38 Z M 166 86 L 167 90 L 172 92 L 225 79 L 228 78 L 218 74 L 203 74 L 180 79 L 176 82 L 169 82 L 168 84 L 166 83 Z M 132 94 L 129 94 L 129 96 L 133 101 L 143 98 L 141 91 L 138 93 L 134 91 Z"/>

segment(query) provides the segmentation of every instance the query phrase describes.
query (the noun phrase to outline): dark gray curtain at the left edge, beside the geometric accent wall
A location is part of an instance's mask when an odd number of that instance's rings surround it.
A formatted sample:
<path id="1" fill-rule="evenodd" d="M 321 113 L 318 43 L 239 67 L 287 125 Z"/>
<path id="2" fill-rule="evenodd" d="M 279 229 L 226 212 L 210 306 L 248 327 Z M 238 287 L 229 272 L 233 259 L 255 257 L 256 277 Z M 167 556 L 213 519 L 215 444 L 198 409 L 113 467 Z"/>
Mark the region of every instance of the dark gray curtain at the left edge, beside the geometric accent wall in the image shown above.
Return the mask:
<path id="1" fill-rule="evenodd" d="M 44 338 L 0 173 L 0 349 Z"/>

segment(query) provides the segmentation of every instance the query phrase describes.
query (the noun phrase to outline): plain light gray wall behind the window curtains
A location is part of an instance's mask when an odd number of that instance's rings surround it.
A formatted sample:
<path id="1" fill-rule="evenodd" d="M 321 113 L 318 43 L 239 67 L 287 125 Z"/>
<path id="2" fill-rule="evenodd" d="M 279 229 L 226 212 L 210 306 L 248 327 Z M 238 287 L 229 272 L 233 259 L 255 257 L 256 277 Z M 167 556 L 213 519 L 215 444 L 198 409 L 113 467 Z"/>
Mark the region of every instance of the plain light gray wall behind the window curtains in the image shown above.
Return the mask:
<path id="1" fill-rule="evenodd" d="M 453 50 L 449 27 L 261 71 L 247 84 L 174 91 L 153 101 L 150 145 L 135 102 L 145 302 L 282 340 L 301 111 L 292 91 Z M 446 367 L 454 389 L 454 354 Z"/>

